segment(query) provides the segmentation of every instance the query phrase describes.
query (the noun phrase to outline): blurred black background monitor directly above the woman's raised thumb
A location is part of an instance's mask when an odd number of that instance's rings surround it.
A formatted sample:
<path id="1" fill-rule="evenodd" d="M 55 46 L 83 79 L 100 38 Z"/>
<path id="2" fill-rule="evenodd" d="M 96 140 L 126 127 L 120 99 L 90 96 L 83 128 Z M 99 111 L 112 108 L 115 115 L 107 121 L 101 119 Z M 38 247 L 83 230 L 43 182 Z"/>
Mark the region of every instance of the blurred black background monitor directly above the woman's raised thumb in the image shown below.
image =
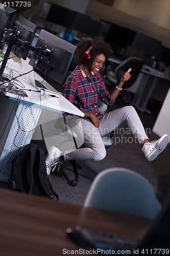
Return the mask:
<path id="1" fill-rule="evenodd" d="M 105 41 L 114 46 L 126 48 L 131 44 L 134 31 L 116 24 L 112 24 Z"/>

